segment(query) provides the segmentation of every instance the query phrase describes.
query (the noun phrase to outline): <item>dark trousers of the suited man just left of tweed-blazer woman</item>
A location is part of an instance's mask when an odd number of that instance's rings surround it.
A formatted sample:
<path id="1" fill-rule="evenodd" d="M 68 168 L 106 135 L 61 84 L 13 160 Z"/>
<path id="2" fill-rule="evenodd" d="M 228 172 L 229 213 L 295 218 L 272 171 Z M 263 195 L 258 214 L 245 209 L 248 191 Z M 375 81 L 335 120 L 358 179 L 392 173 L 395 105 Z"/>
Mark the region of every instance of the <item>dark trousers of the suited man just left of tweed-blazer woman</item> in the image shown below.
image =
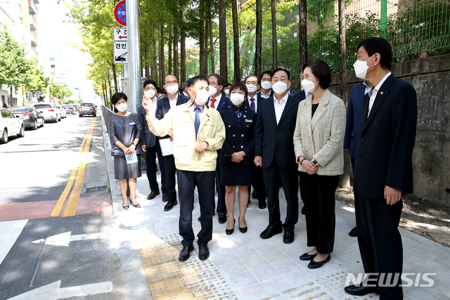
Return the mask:
<path id="1" fill-rule="evenodd" d="M 298 221 L 297 169 L 280 169 L 274 159 L 274 162 L 268 168 L 262 168 L 262 176 L 266 186 L 269 225 L 283 226 L 285 232 L 294 231 L 295 224 Z M 283 186 L 286 202 L 288 202 L 286 219 L 283 224 L 281 224 L 280 216 L 280 198 L 278 197 L 280 187 L 278 183 Z"/>

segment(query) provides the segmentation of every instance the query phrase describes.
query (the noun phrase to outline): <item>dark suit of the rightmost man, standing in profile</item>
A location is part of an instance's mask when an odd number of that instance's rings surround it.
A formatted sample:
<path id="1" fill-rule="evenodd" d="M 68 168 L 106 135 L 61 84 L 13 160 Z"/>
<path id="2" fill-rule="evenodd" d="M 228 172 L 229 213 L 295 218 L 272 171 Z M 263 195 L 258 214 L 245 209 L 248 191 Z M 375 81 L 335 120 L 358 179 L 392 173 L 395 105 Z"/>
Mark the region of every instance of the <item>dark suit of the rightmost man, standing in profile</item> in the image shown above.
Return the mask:
<path id="1" fill-rule="evenodd" d="M 416 90 L 391 74 L 367 117 L 368 103 L 366 95 L 354 166 L 359 250 L 366 273 L 401 273 L 403 247 L 398 226 L 403 202 L 387 205 L 384 190 L 387 185 L 401 190 L 401 195 L 413 192 Z M 400 283 L 379 287 L 380 300 L 403 299 Z"/>

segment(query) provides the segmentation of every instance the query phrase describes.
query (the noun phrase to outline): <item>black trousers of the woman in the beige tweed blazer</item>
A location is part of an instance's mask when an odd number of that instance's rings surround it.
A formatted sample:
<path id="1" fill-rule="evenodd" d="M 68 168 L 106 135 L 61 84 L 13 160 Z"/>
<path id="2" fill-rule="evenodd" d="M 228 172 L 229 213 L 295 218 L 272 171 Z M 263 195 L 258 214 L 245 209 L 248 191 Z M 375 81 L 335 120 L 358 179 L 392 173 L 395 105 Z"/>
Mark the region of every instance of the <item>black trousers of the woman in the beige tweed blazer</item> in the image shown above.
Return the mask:
<path id="1" fill-rule="evenodd" d="M 321 254 L 333 252 L 335 244 L 335 193 L 339 176 L 308 175 L 300 172 L 307 221 L 307 245 Z"/>

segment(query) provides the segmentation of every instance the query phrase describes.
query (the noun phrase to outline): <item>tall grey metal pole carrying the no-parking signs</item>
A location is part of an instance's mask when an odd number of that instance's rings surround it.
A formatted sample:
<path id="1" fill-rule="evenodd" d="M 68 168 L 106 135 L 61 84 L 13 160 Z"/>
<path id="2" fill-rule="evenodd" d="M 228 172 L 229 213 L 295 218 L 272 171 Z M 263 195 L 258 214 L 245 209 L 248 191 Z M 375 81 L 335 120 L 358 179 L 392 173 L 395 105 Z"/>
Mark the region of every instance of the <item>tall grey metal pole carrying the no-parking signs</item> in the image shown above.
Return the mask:
<path id="1" fill-rule="evenodd" d="M 137 112 L 142 103 L 141 93 L 141 41 L 139 39 L 139 2 L 127 0 L 129 107 Z"/>

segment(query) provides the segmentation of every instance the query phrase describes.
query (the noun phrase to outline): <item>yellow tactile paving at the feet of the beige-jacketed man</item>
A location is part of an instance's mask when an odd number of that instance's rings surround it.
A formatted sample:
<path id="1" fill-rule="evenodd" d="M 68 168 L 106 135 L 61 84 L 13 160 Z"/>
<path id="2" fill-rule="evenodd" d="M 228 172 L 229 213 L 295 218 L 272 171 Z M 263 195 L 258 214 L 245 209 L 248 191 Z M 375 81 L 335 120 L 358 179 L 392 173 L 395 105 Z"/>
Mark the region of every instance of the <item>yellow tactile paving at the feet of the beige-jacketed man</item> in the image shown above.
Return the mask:
<path id="1" fill-rule="evenodd" d="M 141 244 L 141 259 L 153 299 L 237 299 L 210 261 L 198 260 L 198 247 L 191 259 L 180 262 L 181 237 L 154 237 Z"/>

